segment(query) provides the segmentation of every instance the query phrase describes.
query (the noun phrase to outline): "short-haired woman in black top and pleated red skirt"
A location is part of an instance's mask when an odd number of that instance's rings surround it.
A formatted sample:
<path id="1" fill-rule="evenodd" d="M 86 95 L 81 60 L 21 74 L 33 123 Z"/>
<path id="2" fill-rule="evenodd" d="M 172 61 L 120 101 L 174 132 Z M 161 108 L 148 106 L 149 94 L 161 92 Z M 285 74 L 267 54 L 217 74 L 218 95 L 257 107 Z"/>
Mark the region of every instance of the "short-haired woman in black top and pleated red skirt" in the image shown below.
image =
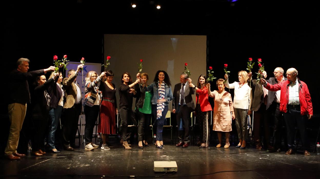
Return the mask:
<path id="1" fill-rule="evenodd" d="M 102 92 L 100 107 L 100 123 L 98 132 L 101 133 L 103 150 L 110 150 L 107 144 L 108 134 L 116 134 L 116 114 L 118 113 L 116 103 L 116 86 L 112 83 L 114 73 L 111 70 L 106 72 L 106 79 L 101 83 L 99 89 Z"/>

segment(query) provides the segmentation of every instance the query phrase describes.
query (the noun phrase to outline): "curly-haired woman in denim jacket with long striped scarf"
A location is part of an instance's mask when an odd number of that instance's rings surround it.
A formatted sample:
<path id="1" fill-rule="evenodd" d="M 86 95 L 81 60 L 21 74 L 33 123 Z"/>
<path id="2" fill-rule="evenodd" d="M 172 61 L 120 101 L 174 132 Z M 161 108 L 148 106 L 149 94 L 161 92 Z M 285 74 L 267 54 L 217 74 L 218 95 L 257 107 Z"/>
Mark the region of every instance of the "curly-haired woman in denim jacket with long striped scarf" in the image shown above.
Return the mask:
<path id="1" fill-rule="evenodd" d="M 165 116 L 168 112 L 168 104 L 172 100 L 171 82 L 167 72 L 159 70 L 156 72 L 155 79 L 146 91 L 152 91 L 151 109 L 155 119 L 157 119 L 156 148 L 163 148 L 162 131 Z"/>

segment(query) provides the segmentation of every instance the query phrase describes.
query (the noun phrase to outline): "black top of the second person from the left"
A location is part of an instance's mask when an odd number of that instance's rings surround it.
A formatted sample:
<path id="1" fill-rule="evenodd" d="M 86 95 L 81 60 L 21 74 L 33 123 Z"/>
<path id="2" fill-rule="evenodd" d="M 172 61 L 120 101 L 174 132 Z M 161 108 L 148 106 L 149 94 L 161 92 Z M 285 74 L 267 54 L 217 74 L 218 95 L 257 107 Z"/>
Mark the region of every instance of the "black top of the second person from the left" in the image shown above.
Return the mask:
<path id="1" fill-rule="evenodd" d="M 33 119 L 48 118 L 51 97 L 48 94 L 47 89 L 49 86 L 53 85 L 53 82 L 54 80 L 50 78 L 43 85 L 36 86 L 31 99 L 31 116 Z"/>

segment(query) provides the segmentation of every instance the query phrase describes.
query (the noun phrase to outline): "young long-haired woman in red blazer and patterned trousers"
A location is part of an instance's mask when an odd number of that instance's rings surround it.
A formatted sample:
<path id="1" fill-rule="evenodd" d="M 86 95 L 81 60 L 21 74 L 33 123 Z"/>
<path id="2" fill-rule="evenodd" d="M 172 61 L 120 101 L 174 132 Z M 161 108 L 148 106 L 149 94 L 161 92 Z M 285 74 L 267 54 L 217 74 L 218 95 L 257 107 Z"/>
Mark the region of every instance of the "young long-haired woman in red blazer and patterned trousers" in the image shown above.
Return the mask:
<path id="1" fill-rule="evenodd" d="M 209 147 L 209 111 L 212 111 L 208 99 L 208 82 L 205 75 L 200 75 L 198 85 L 195 86 L 189 81 L 189 87 L 196 89 L 196 117 L 200 122 L 200 142 L 199 148 Z"/>

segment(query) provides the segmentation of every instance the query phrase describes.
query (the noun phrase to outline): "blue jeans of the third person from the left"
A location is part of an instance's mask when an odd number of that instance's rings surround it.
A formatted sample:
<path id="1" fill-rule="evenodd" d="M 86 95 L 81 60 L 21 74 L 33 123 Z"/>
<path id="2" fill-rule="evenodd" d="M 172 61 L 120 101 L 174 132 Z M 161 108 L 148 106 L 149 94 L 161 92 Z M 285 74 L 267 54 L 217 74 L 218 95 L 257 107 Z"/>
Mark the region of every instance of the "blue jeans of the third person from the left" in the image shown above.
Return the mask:
<path id="1" fill-rule="evenodd" d="M 57 106 L 56 109 L 52 108 L 49 111 L 49 133 L 48 133 L 48 145 L 49 145 L 49 149 L 55 149 L 55 145 L 54 145 L 54 141 L 55 141 L 55 133 L 57 130 L 57 126 L 59 124 L 60 121 L 60 117 L 61 117 L 61 112 L 62 112 L 62 106 Z"/>

